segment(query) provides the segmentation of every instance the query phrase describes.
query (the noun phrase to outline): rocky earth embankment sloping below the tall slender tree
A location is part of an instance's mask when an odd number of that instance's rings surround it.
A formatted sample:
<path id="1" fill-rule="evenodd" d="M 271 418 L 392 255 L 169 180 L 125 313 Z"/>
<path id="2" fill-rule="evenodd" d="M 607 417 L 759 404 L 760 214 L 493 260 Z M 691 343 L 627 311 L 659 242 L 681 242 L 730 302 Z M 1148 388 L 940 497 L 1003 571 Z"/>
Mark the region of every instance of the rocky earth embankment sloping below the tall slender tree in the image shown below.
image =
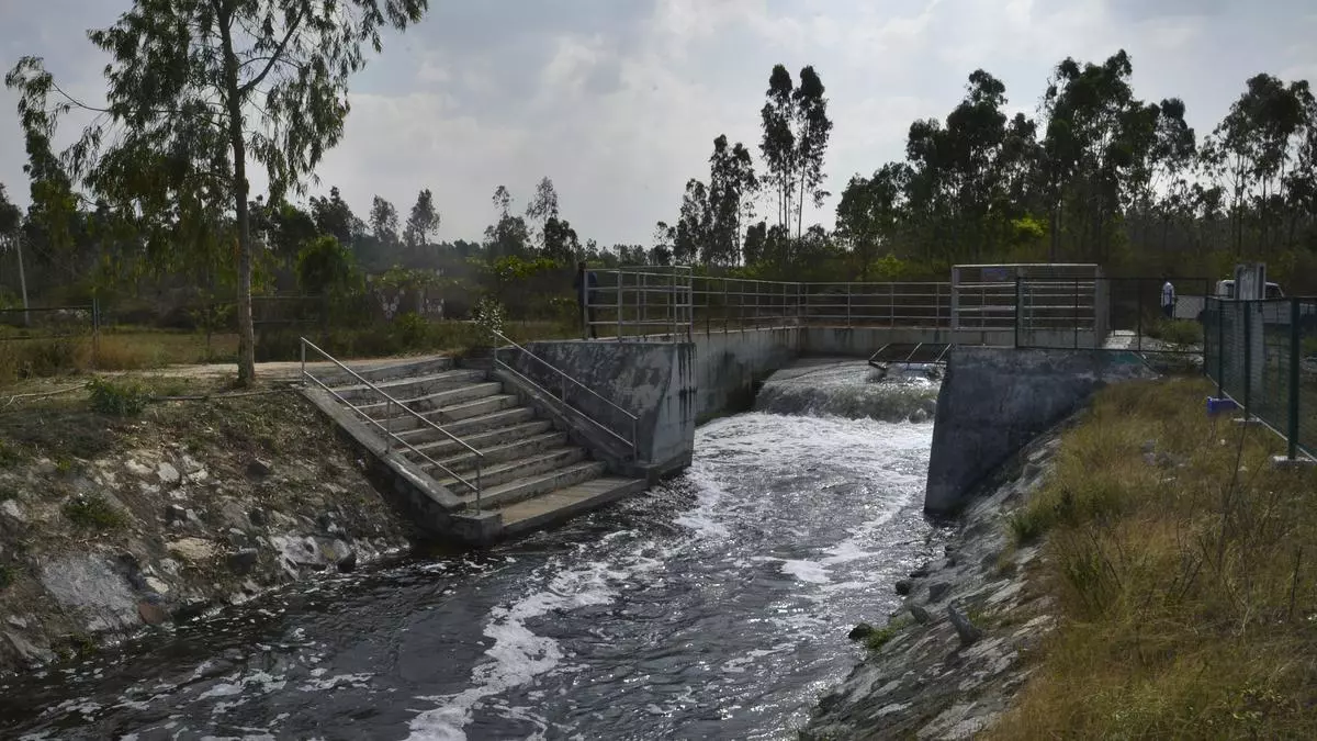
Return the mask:
<path id="1" fill-rule="evenodd" d="M 79 401 L 0 415 L 0 671 L 408 546 L 328 421 L 291 392 Z"/>

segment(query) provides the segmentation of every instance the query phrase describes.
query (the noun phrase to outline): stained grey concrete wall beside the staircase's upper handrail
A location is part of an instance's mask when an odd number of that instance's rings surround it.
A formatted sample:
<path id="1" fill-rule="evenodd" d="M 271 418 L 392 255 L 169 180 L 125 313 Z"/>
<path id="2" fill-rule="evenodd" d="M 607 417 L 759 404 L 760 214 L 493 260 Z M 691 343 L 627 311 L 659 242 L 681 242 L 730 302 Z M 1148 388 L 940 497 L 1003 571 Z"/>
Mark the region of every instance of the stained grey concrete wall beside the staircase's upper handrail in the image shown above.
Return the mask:
<path id="1" fill-rule="evenodd" d="M 527 349 L 561 369 L 599 397 L 635 414 L 640 461 L 660 475 L 690 465 L 695 439 L 695 347 L 690 343 L 649 341 L 540 341 Z M 499 357 L 519 373 L 554 396 L 566 390 L 568 402 L 622 436 L 630 438 L 632 422 L 598 397 L 564 386 L 561 378 L 541 363 L 515 351 L 499 351 Z M 573 425 L 589 435 L 589 423 Z M 598 442 L 595 435 L 591 443 Z M 598 444 L 591 450 L 601 451 Z M 615 448 L 606 444 L 603 458 Z"/>

